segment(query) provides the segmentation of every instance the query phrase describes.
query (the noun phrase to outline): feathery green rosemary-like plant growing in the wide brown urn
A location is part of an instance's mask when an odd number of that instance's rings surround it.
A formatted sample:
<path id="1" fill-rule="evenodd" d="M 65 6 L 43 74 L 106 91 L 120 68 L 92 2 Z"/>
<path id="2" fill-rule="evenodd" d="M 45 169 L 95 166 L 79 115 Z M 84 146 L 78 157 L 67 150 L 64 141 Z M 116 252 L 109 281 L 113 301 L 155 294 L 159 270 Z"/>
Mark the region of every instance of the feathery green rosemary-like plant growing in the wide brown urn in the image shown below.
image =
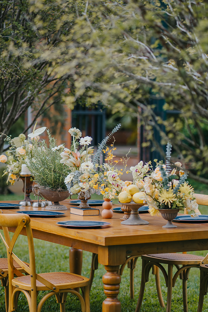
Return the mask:
<path id="1" fill-rule="evenodd" d="M 33 147 L 33 156 L 29 157 L 27 167 L 34 176 L 34 180 L 44 188 L 53 191 L 67 191 L 64 183 L 65 176 L 68 174 L 68 167 L 60 163 L 59 150 L 52 150 L 56 147 L 56 140 L 51 137 L 47 130 L 49 147 L 45 140 L 40 142 L 40 147 L 37 144 Z"/>

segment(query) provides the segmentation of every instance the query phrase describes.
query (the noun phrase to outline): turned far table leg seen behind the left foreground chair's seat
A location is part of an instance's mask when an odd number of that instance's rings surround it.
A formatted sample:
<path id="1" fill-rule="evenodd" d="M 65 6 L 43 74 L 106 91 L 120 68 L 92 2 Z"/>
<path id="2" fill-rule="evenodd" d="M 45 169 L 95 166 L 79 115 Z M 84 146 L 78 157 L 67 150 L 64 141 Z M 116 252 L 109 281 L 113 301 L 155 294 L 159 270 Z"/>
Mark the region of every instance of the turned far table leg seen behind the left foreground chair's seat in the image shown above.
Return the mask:
<path id="1" fill-rule="evenodd" d="M 70 273 L 82 275 L 82 254 L 81 249 L 70 248 L 69 250 L 69 269 Z M 79 292 L 80 288 L 75 288 Z"/>

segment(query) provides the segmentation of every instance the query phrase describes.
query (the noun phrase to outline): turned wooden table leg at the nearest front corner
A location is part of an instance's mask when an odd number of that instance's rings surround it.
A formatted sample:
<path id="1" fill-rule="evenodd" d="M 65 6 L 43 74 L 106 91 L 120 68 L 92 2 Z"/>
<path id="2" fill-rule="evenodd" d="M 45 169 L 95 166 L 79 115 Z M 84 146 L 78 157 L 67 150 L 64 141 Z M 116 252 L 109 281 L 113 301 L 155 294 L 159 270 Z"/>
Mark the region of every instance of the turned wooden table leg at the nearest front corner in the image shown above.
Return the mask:
<path id="1" fill-rule="evenodd" d="M 107 271 L 103 275 L 103 288 L 106 299 L 103 301 L 103 312 L 121 312 L 121 303 L 118 300 L 121 276 L 119 266 L 105 266 Z"/>

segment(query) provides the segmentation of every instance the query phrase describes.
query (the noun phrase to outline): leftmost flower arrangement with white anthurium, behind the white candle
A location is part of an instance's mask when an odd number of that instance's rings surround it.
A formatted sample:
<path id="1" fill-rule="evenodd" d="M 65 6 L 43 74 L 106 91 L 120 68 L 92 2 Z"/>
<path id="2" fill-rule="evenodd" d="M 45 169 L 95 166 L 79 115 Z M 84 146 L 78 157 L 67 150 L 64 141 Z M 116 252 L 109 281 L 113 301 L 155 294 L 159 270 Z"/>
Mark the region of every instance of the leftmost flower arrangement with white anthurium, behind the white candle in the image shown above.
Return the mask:
<path id="1" fill-rule="evenodd" d="M 27 165 L 29 155 L 32 156 L 34 143 L 40 139 L 39 135 L 46 129 L 46 127 L 36 129 L 36 124 L 33 131 L 28 134 L 27 139 L 23 133 L 13 139 L 11 135 L 7 136 L 6 134 L 1 134 L 5 135 L 4 141 L 7 141 L 10 145 L 9 149 L 6 151 L 6 155 L 0 155 L 0 162 L 7 164 L 3 175 L 8 174 L 7 183 L 10 182 L 11 185 L 15 183 L 17 178 L 20 178 L 22 164 Z"/>

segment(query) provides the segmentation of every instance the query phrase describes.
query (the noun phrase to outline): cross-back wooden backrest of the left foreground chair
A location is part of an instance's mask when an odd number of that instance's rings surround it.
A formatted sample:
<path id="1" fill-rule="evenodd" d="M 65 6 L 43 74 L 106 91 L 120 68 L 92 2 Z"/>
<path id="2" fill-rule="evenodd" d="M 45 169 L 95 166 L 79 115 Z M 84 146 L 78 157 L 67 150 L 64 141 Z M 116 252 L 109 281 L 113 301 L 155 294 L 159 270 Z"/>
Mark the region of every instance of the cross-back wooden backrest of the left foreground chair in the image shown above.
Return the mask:
<path id="1" fill-rule="evenodd" d="M 36 280 L 38 280 L 42 284 L 46 285 L 46 287 L 48 287 L 49 289 L 58 292 L 59 288 L 57 286 L 45 280 L 40 275 L 36 274 L 35 251 L 30 217 L 26 214 L 18 214 L 18 213 L 6 214 L 2 213 L 2 210 L 0 210 L 0 226 L 3 229 L 5 239 L 3 238 L 1 233 L 0 236 L 2 237 L 2 240 L 7 248 L 9 286 L 12 287 L 12 279 L 14 278 L 14 274 L 17 276 L 24 276 L 21 272 L 19 272 L 16 268 L 14 268 L 13 266 L 14 259 L 29 275 L 31 275 L 31 288 L 33 289 L 33 291 L 36 291 Z M 12 240 L 10 240 L 8 227 L 16 228 Z M 29 267 L 13 253 L 13 247 L 24 227 L 26 228 L 27 233 L 29 259 L 30 259 Z"/>

